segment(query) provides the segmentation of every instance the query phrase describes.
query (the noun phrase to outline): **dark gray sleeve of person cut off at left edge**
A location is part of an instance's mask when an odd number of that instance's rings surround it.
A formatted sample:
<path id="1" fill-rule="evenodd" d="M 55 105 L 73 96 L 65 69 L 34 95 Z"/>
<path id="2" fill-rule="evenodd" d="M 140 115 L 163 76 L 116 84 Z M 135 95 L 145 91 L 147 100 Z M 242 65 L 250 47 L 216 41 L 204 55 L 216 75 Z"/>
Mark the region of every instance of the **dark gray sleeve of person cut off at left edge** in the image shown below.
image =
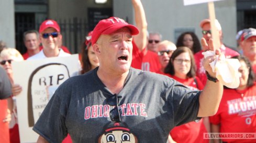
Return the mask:
<path id="1" fill-rule="evenodd" d="M 6 71 L 0 67 L 0 99 L 12 96 L 12 85 Z"/>

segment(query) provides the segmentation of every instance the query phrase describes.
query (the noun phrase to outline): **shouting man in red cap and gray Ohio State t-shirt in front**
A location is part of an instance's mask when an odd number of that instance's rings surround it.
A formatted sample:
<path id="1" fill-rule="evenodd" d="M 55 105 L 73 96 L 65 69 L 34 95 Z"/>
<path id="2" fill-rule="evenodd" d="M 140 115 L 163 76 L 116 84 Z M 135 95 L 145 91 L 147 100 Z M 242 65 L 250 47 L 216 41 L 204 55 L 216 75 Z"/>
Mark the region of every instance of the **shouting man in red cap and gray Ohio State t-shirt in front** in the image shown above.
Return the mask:
<path id="1" fill-rule="evenodd" d="M 38 142 L 61 142 L 67 134 L 73 142 L 98 142 L 110 122 L 126 123 L 125 130 L 138 142 L 166 142 L 174 126 L 217 112 L 223 85 L 209 65 L 216 56 L 204 60 L 209 74 L 204 90 L 191 90 L 168 76 L 131 68 L 132 40 L 138 33 L 117 17 L 98 22 L 92 46 L 99 67 L 59 86 L 33 127 Z M 215 50 L 213 40 L 202 45 Z M 130 134 L 116 132 L 122 129 L 115 127 L 104 140 L 129 142 Z"/>

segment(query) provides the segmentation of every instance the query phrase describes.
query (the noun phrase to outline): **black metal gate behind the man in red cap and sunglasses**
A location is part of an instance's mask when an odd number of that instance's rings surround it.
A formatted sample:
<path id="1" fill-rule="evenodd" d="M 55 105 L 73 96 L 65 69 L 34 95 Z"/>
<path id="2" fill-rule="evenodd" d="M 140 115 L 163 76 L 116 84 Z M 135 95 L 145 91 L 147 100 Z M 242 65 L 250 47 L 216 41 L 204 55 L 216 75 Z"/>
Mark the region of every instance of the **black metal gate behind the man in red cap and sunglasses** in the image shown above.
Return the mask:
<path id="1" fill-rule="evenodd" d="M 16 49 L 21 54 L 26 53 L 27 49 L 23 42 L 23 33 L 27 30 L 39 30 L 41 19 L 35 21 L 35 14 L 33 13 L 16 13 L 15 14 L 15 40 Z M 70 19 L 53 19 L 57 21 L 61 28 L 63 37 L 62 44 L 71 51 L 72 54 L 80 52 L 80 46 L 88 33 L 88 26 L 86 19 L 70 18 Z"/>

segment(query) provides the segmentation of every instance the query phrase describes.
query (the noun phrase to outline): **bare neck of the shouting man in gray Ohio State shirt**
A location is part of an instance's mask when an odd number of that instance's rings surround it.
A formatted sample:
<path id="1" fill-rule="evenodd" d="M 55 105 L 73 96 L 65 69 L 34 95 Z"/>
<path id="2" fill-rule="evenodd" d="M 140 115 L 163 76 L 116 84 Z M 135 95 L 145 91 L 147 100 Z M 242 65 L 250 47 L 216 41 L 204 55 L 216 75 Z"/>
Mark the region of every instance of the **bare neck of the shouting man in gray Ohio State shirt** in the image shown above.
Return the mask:
<path id="1" fill-rule="evenodd" d="M 128 73 L 129 71 L 121 74 L 111 71 L 108 72 L 104 69 L 101 69 L 101 67 L 99 67 L 97 71 L 99 79 L 113 94 L 118 94 L 121 89 L 123 89 Z"/>

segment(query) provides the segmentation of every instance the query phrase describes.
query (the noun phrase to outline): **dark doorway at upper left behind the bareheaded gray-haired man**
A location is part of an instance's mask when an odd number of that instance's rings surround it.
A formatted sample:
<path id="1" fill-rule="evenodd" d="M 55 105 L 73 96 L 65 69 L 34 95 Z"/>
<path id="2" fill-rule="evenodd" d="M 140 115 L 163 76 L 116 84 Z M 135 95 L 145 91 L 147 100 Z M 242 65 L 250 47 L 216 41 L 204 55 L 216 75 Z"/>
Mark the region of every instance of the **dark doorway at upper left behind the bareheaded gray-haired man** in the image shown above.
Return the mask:
<path id="1" fill-rule="evenodd" d="M 16 49 L 21 54 L 24 54 L 27 51 L 23 42 L 23 33 L 27 30 L 35 29 L 35 25 L 35 13 L 15 13 L 15 43 Z"/>

